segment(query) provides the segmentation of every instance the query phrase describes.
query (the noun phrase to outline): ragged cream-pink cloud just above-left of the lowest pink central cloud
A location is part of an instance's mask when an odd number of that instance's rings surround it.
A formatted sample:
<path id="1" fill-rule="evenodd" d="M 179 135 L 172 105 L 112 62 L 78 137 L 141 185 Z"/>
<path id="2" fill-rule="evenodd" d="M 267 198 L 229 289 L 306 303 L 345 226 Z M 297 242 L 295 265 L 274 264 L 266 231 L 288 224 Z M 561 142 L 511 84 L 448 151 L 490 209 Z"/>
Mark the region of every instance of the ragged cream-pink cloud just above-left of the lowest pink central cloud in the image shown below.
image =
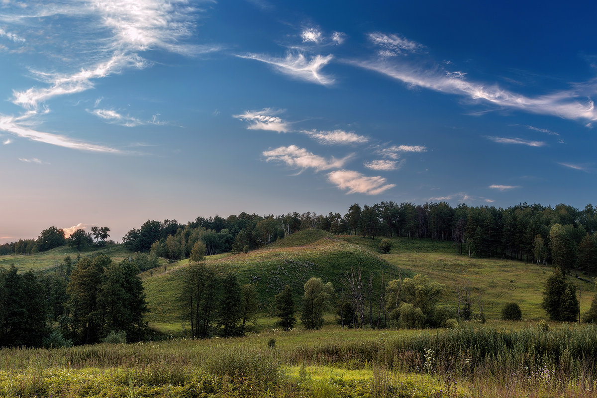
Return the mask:
<path id="1" fill-rule="evenodd" d="M 282 162 L 286 163 L 292 168 L 313 168 L 315 171 L 340 168 L 349 158 L 352 157 L 352 155 L 349 155 L 343 159 L 325 159 L 321 156 L 313 155 L 313 153 L 304 148 L 299 148 L 296 145 L 266 150 L 263 152 L 263 156 L 265 156 L 267 162 Z"/>

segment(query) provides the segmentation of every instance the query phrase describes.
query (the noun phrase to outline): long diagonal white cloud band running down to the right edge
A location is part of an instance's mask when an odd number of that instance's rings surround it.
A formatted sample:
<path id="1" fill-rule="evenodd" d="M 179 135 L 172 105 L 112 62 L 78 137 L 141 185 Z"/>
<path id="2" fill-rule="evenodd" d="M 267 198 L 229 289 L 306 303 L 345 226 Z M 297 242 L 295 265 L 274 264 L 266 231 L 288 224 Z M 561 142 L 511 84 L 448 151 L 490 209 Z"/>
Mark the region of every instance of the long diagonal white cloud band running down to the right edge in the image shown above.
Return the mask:
<path id="1" fill-rule="evenodd" d="M 576 84 L 570 90 L 527 97 L 504 90 L 497 85 L 467 81 L 461 72 L 445 72 L 440 67 L 421 67 L 407 62 L 387 60 L 355 61 L 353 64 L 389 76 L 413 87 L 423 87 L 445 94 L 464 95 L 473 101 L 485 101 L 496 106 L 518 109 L 540 115 L 565 119 L 597 121 L 597 110 L 589 98 L 595 95 L 595 82 Z"/>

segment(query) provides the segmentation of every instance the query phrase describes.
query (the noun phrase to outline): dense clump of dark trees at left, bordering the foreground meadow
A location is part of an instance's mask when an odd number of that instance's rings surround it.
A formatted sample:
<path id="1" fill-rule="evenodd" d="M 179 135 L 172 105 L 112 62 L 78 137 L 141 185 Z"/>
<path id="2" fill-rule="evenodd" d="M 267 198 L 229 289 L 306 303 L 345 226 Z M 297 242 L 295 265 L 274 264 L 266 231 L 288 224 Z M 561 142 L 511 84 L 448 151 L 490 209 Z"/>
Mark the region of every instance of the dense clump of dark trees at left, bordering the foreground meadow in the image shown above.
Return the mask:
<path id="1" fill-rule="evenodd" d="M 93 344 L 115 332 L 143 339 L 148 308 L 138 274 L 136 260 L 102 254 L 66 257 L 54 273 L 0 269 L 0 347 Z"/>

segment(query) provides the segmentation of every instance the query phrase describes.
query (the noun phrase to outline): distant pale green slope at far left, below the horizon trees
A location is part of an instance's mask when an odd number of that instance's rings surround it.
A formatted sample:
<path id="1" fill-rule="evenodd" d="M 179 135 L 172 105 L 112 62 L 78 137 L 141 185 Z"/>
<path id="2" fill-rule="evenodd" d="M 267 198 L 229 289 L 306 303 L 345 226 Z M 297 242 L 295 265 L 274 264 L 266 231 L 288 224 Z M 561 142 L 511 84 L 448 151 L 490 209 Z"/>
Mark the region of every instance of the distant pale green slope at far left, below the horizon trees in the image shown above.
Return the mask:
<path id="1" fill-rule="evenodd" d="M 76 261 L 77 254 L 86 256 L 100 253 L 109 255 L 114 261 L 121 261 L 133 255 L 123 245 L 117 245 L 116 243 L 111 243 L 103 247 L 91 245 L 82 248 L 81 251 L 78 251 L 73 246 L 60 246 L 59 248 L 37 254 L 1 255 L 0 267 L 8 268 L 11 264 L 14 264 L 20 271 L 29 269 L 41 271 L 59 266 L 67 255 L 70 255 L 70 258 L 72 258 L 73 261 Z"/>

